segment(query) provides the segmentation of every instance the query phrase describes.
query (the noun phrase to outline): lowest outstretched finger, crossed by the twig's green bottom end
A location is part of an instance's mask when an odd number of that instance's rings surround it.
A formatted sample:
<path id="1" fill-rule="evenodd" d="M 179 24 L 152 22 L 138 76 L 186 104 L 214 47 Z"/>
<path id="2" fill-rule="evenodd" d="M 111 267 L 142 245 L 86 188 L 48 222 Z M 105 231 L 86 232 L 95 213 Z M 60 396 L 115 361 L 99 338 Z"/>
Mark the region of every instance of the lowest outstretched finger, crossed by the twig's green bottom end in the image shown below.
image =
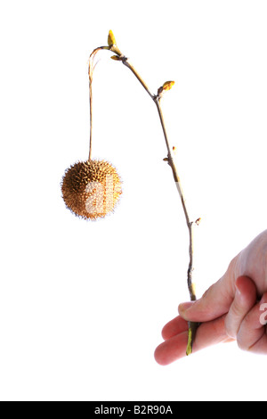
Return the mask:
<path id="1" fill-rule="evenodd" d="M 224 316 L 212 322 L 207 322 L 198 327 L 196 338 L 193 345 L 193 353 L 200 349 L 228 340 L 224 327 Z M 188 343 L 188 331 L 178 333 L 164 341 L 155 350 L 155 359 L 161 366 L 166 366 L 186 357 Z"/>

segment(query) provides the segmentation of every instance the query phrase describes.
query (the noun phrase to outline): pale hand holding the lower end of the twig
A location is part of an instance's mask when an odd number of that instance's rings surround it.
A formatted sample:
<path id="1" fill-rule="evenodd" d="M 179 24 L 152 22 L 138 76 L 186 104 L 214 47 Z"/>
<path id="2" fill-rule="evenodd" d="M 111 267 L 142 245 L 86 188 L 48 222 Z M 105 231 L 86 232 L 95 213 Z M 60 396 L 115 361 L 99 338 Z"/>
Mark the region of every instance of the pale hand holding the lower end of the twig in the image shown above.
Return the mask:
<path id="1" fill-rule="evenodd" d="M 180 304 L 179 315 L 165 325 L 164 342 L 155 350 L 166 366 L 185 357 L 188 321 L 198 322 L 193 353 L 216 343 L 237 341 L 240 349 L 267 354 L 267 230 L 231 263 L 223 277 L 195 302 Z"/>

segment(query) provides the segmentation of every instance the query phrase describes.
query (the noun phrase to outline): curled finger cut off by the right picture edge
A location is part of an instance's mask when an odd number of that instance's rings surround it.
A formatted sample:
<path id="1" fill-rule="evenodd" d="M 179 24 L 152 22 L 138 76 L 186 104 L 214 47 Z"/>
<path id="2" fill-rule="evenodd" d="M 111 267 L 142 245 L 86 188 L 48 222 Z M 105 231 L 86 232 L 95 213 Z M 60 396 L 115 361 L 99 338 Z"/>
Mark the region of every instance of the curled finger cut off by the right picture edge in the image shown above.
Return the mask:
<path id="1" fill-rule="evenodd" d="M 237 341 L 240 349 L 267 354 L 267 292 L 252 308 L 239 327 Z"/>

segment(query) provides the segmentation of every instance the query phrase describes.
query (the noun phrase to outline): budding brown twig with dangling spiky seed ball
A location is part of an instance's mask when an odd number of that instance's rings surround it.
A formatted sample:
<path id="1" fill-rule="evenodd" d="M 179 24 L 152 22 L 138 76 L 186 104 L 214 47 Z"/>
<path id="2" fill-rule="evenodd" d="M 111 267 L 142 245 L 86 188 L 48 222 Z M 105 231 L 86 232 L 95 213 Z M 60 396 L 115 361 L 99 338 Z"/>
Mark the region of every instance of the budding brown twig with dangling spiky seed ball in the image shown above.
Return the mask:
<path id="1" fill-rule="evenodd" d="M 82 218 L 95 220 L 97 218 L 103 218 L 109 212 L 113 211 L 117 201 L 119 199 L 121 190 L 121 180 L 117 175 L 117 170 L 107 161 L 103 160 L 92 160 L 92 130 L 93 130 L 93 70 L 95 67 L 95 57 L 98 52 L 107 50 L 113 53 L 111 56 L 112 60 L 122 62 L 125 67 L 134 73 L 134 76 L 142 84 L 146 92 L 150 95 L 152 101 L 156 104 L 158 110 L 158 116 L 160 119 L 161 127 L 163 130 L 167 157 L 164 159 L 170 168 L 172 168 L 174 182 L 177 187 L 178 193 L 182 201 L 182 209 L 185 215 L 186 224 L 189 231 L 189 267 L 187 271 L 187 283 L 190 292 L 190 300 L 197 300 L 195 286 L 192 280 L 193 275 L 193 230 L 194 226 L 198 226 L 200 218 L 192 220 L 189 215 L 187 204 L 185 201 L 184 193 L 182 191 L 182 185 L 180 177 L 178 176 L 177 168 L 174 163 L 174 147 L 171 148 L 166 133 L 166 125 L 162 114 L 160 101 L 166 91 L 170 90 L 174 86 L 174 81 L 166 81 L 163 86 L 158 88 L 158 93 L 153 94 L 150 92 L 149 87 L 144 82 L 140 74 L 134 69 L 134 66 L 129 62 L 128 58 L 124 53 L 117 47 L 116 39 L 111 30 L 109 30 L 108 45 L 99 46 L 93 50 L 89 59 L 89 97 L 90 97 L 90 145 L 89 145 L 89 156 L 85 162 L 77 162 L 65 172 L 61 182 L 62 198 L 69 208 L 75 215 Z M 193 341 L 195 334 L 198 329 L 198 324 L 189 322 L 189 336 L 186 354 L 190 355 L 192 352 Z"/>

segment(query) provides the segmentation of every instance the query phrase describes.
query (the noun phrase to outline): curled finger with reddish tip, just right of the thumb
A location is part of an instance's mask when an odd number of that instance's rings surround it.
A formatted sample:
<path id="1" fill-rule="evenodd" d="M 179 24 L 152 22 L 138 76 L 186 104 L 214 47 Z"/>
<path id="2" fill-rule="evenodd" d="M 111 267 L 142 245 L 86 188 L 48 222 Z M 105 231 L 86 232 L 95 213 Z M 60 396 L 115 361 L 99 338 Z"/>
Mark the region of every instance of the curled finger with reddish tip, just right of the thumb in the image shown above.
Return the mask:
<path id="1" fill-rule="evenodd" d="M 225 317 L 226 333 L 232 339 L 236 339 L 243 319 L 255 306 L 257 298 L 255 283 L 247 276 L 239 276 L 236 281 L 236 290 L 231 308 Z"/>

